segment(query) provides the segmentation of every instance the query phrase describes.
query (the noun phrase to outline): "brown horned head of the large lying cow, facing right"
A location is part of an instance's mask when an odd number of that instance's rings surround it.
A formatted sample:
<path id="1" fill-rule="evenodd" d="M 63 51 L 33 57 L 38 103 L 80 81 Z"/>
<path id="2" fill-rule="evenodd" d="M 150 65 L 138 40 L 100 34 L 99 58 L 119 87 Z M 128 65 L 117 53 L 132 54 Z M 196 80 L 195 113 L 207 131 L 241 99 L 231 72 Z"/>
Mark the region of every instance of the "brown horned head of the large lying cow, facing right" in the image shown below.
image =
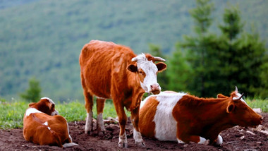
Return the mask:
<path id="1" fill-rule="evenodd" d="M 224 98 L 224 95 L 218 95 L 219 98 Z M 244 127 L 255 127 L 262 123 L 262 116 L 253 111 L 245 100 L 238 93 L 238 89 L 231 93 L 229 98 L 228 106 L 226 107 L 226 112 L 229 114 L 231 123 L 238 126 Z"/>

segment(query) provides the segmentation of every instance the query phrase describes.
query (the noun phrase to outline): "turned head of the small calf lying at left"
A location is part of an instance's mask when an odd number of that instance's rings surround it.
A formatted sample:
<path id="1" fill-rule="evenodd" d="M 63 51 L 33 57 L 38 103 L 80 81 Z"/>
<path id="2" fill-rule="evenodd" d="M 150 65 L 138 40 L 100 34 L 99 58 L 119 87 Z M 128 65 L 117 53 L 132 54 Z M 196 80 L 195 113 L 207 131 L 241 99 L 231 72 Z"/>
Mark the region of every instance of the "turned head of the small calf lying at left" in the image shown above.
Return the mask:
<path id="1" fill-rule="evenodd" d="M 35 108 L 38 111 L 42 111 L 43 113 L 51 116 L 59 114 L 59 112 L 55 109 L 55 103 L 48 97 L 42 97 L 37 103 L 30 103 L 29 107 Z"/>

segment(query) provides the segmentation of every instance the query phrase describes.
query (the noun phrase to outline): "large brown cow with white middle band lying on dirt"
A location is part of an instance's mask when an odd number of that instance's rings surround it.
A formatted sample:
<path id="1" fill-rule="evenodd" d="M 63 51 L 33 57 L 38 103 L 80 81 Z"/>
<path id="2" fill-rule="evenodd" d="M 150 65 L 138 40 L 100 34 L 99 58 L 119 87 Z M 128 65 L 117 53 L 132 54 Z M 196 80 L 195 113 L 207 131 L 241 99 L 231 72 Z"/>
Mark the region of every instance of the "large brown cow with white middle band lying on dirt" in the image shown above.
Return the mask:
<path id="1" fill-rule="evenodd" d="M 221 145 L 219 133 L 226 128 L 262 123 L 262 116 L 237 89 L 231 97 L 218 97 L 204 99 L 171 91 L 147 97 L 140 108 L 140 133 L 157 140 Z"/>

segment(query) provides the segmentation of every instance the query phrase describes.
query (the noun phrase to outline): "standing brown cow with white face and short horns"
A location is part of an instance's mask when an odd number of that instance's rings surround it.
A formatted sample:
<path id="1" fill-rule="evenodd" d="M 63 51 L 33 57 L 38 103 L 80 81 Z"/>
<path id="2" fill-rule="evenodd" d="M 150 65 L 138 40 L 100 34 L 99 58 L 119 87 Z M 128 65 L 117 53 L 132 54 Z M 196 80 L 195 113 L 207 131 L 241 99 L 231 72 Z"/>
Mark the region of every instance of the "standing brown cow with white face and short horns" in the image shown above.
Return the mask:
<path id="1" fill-rule="evenodd" d="M 124 107 L 131 111 L 135 143 L 145 146 L 139 130 L 139 110 L 145 92 L 158 94 L 157 73 L 166 69 L 165 61 L 150 54 L 135 55 L 125 46 L 113 42 L 92 40 L 80 54 L 81 82 L 85 95 L 87 120 L 85 133 L 92 131 L 93 95 L 97 97 L 97 128 L 105 133 L 102 119 L 105 99 L 113 99 L 120 124 L 119 147 L 128 147 L 126 138 L 127 116 Z"/>

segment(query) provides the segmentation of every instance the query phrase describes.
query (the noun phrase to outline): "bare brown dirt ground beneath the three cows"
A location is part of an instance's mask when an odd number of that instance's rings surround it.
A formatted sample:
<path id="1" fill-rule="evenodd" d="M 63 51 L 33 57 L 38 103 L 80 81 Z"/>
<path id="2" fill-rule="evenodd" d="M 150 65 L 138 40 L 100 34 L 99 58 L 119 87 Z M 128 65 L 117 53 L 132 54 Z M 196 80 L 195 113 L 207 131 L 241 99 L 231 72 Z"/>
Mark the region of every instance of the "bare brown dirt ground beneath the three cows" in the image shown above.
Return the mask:
<path id="1" fill-rule="evenodd" d="M 106 124 L 106 135 L 98 136 L 84 133 L 85 121 L 70 122 L 70 134 L 78 146 L 60 148 L 49 145 L 36 145 L 23 138 L 23 129 L 0 130 L 0 150 L 268 150 L 268 113 L 262 114 L 264 123 L 257 128 L 233 127 L 221 132 L 224 143 L 221 147 L 198 145 L 195 143 L 178 144 L 145 138 L 146 147 L 137 147 L 133 140 L 132 125 L 128 122 L 128 149 L 117 146 L 119 126 Z M 129 121 L 129 120 L 128 120 Z"/>

